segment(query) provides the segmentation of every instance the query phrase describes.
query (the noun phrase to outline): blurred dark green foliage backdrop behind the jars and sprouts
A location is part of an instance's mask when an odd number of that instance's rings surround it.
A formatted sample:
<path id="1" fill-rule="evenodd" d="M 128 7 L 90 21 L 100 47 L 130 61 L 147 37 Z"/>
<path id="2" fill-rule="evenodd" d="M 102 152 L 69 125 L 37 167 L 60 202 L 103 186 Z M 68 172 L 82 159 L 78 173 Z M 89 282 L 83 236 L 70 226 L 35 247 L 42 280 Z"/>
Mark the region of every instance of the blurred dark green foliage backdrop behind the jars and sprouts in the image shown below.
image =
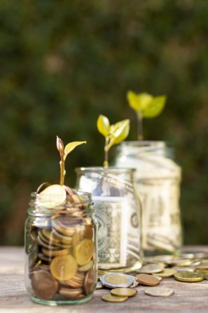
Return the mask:
<path id="1" fill-rule="evenodd" d="M 145 139 L 169 140 L 183 168 L 185 243 L 208 243 L 208 1 L 0 1 L 0 244 L 22 244 L 31 191 L 59 180 L 56 134 L 87 140 L 66 161 L 102 165 L 102 113 L 136 116 L 126 91 L 167 94 L 144 121 Z M 113 151 L 110 151 L 113 158 Z"/>

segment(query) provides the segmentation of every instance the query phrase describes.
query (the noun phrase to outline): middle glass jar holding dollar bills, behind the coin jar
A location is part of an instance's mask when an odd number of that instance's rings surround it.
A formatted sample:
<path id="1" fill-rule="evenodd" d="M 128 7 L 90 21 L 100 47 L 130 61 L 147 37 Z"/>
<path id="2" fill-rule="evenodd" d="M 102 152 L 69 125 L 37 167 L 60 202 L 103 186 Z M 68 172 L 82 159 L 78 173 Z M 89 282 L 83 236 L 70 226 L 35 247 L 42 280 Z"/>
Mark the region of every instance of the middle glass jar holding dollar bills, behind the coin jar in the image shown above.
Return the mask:
<path id="1" fill-rule="evenodd" d="M 92 193 L 98 220 L 98 269 L 130 272 L 142 265 L 141 201 L 132 168 L 76 168 L 77 190 Z"/>

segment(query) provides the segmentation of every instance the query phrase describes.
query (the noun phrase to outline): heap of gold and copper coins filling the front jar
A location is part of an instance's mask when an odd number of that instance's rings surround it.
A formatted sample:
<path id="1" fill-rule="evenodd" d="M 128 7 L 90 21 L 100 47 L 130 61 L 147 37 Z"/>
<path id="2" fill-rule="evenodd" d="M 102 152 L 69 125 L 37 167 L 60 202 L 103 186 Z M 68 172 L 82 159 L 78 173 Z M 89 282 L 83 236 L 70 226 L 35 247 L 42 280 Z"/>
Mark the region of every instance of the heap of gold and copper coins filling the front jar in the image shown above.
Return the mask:
<path id="1" fill-rule="evenodd" d="M 52 186 L 40 189 L 49 194 L 47 188 Z M 45 300 L 84 298 L 93 293 L 96 285 L 93 225 L 86 217 L 86 207 L 80 204 L 83 199 L 69 187 L 62 189 L 66 190 L 64 201 L 69 205 L 51 216 L 35 218 L 28 229 L 28 277 L 33 296 Z M 63 194 L 47 198 L 47 208 L 60 205 Z"/>

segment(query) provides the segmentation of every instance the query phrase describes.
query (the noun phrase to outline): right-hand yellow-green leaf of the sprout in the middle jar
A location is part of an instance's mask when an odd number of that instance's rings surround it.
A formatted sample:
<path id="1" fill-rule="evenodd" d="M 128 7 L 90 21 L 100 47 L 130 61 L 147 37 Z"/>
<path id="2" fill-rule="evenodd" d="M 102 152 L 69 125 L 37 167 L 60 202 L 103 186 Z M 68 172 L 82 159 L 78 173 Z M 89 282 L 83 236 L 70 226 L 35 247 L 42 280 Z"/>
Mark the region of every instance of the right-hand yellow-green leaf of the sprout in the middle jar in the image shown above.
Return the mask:
<path id="1" fill-rule="evenodd" d="M 129 134 L 130 120 L 124 119 L 110 126 L 110 141 L 107 146 L 110 147 L 116 143 L 123 141 Z"/>

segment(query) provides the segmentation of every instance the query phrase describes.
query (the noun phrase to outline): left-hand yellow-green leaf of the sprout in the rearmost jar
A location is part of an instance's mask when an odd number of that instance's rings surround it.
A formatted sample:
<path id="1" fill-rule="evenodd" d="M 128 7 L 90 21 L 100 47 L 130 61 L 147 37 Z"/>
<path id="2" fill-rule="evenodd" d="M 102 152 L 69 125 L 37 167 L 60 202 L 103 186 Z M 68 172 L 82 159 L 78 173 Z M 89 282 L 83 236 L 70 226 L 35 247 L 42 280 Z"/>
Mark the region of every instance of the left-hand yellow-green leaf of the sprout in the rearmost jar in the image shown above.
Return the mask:
<path id="1" fill-rule="evenodd" d="M 146 107 L 148 107 L 149 103 L 152 101 L 153 96 L 149 93 L 135 93 L 131 90 L 127 92 L 127 99 L 129 101 L 129 105 L 135 111 L 142 111 Z"/>

